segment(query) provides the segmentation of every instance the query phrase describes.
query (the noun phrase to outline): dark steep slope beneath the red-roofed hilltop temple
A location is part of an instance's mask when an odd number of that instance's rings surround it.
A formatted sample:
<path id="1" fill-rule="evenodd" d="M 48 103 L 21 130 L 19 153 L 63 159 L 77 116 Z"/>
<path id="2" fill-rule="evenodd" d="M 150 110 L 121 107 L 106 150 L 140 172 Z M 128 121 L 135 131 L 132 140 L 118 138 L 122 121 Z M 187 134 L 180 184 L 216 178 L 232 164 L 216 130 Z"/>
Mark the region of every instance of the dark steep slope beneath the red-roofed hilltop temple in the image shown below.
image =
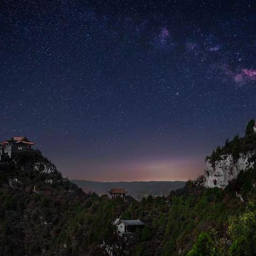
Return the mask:
<path id="1" fill-rule="evenodd" d="M 0 255 L 71 255 L 62 230 L 86 202 L 39 151 L 1 163 Z"/>

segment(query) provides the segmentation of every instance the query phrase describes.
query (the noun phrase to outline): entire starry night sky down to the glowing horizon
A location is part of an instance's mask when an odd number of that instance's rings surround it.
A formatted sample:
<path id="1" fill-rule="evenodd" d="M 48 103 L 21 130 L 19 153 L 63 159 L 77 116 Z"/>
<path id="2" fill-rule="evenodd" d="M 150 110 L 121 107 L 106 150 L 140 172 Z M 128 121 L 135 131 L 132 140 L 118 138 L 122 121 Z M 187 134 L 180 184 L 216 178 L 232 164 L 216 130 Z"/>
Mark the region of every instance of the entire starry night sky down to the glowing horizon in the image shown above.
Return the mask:
<path id="1" fill-rule="evenodd" d="M 1 140 L 26 135 L 70 179 L 196 178 L 255 117 L 255 10 L 0 0 Z"/>

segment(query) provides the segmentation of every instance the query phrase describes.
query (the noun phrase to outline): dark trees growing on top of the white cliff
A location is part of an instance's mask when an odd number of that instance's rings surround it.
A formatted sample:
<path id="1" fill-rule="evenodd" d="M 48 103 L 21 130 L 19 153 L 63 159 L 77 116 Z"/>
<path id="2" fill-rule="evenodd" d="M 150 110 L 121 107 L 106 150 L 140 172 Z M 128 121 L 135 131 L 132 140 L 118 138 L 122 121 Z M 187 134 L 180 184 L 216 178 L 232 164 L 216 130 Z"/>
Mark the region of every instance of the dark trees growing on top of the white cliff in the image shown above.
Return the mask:
<path id="1" fill-rule="evenodd" d="M 254 132 L 255 121 L 252 119 L 246 126 L 245 135 L 239 138 L 236 134 L 232 140 L 227 139 L 225 145 L 218 146 L 213 150 L 210 156 L 206 156 L 206 160 L 214 164 L 215 161 L 221 159 L 223 155 L 232 155 L 235 160 L 239 158 L 239 154 L 254 151 L 256 149 L 256 133 Z"/>

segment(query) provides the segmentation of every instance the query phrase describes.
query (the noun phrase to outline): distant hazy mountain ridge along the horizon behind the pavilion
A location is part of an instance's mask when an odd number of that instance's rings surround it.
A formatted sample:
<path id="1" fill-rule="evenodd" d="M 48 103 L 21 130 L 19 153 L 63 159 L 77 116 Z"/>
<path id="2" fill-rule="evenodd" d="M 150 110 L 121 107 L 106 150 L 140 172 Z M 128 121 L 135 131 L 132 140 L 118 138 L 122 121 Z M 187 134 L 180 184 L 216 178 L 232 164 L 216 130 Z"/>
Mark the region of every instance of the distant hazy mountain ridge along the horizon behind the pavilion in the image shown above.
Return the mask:
<path id="1" fill-rule="evenodd" d="M 107 194 L 110 188 L 124 188 L 135 199 L 143 196 L 162 196 L 169 195 L 172 190 L 183 188 L 185 181 L 119 181 L 119 182 L 100 182 L 88 180 L 72 180 L 85 193 L 95 192 L 99 195 Z"/>

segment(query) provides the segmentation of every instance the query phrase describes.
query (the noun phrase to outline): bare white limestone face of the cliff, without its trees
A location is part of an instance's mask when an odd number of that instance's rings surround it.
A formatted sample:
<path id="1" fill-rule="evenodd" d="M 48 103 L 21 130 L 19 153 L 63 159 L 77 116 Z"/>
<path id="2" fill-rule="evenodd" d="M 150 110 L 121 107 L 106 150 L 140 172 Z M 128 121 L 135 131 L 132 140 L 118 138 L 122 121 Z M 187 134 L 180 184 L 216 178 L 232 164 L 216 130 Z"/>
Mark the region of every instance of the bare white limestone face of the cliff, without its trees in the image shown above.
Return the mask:
<path id="1" fill-rule="evenodd" d="M 254 162 L 249 161 L 252 155 L 252 153 L 240 154 L 237 161 L 231 155 L 223 155 L 222 159 L 215 161 L 213 166 L 207 160 L 204 186 L 208 188 L 227 187 L 229 181 L 236 179 L 240 171 L 246 171 L 253 167 Z"/>

